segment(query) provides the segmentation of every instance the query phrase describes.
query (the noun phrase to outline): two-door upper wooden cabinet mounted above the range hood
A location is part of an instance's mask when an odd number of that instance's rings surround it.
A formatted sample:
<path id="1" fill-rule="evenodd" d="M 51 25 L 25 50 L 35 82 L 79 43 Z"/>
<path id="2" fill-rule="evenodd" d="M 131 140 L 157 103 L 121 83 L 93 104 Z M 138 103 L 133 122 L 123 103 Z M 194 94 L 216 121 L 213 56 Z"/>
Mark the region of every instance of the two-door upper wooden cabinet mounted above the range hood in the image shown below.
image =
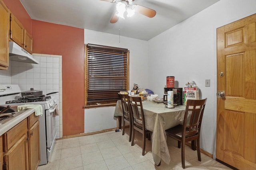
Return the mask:
<path id="1" fill-rule="evenodd" d="M 10 39 L 32 54 L 32 36 L 13 14 L 10 14 Z"/>

